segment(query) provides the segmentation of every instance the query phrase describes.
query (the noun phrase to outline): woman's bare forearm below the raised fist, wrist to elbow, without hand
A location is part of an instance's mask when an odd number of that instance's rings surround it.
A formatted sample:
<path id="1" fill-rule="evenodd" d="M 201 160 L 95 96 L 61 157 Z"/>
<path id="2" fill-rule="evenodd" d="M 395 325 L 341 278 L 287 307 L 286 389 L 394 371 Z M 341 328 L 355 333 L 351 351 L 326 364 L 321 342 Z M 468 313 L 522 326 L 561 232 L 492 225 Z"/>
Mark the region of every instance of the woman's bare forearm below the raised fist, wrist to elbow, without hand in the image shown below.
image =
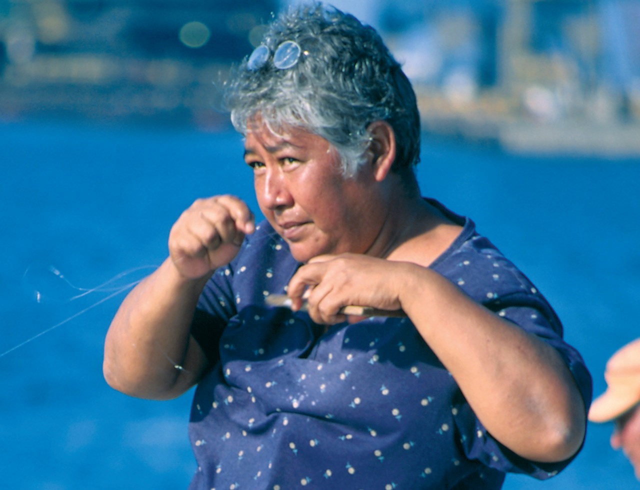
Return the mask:
<path id="1" fill-rule="evenodd" d="M 104 376 L 113 388 L 166 399 L 196 383 L 205 358 L 189 331 L 205 282 L 182 278 L 168 259 L 129 293 L 105 340 Z"/>

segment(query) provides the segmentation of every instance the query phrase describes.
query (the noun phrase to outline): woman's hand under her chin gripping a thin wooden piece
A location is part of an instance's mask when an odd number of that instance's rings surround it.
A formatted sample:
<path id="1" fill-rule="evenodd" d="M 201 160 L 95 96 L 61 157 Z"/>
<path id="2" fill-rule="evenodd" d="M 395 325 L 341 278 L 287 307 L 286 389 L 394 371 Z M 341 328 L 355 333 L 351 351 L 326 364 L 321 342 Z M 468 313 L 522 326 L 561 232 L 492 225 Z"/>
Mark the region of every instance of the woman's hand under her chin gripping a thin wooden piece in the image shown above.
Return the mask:
<path id="1" fill-rule="evenodd" d="M 307 300 L 308 313 L 318 324 L 348 320 L 340 308 L 350 304 L 380 310 L 402 308 L 399 297 L 408 285 L 415 264 L 392 262 L 367 255 L 345 253 L 320 255 L 298 269 L 289 282 L 287 294 L 294 310 Z M 351 320 L 360 320 L 356 317 Z"/>

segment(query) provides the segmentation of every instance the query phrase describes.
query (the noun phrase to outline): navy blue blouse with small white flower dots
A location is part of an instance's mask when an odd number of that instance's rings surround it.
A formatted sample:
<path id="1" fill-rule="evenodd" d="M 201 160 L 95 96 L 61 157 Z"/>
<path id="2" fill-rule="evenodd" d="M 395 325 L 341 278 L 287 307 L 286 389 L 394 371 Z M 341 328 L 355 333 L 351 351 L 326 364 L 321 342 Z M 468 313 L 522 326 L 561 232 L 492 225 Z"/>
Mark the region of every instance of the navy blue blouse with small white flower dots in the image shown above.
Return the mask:
<path id="1" fill-rule="evenodd" d="M 470 219 L 431 268 L 560 352 L 582 396 L 591 377 L 556 313 Z M 489 434 L 409 319 L 328 331 L 265 304 L 299 267 L 268 223 L 205 287 L 193 335 L 212 370 L 189 435 L 191 489 L 499 489 L 507 472 L 548 478 L 569 461 L 527 461 Z"/>

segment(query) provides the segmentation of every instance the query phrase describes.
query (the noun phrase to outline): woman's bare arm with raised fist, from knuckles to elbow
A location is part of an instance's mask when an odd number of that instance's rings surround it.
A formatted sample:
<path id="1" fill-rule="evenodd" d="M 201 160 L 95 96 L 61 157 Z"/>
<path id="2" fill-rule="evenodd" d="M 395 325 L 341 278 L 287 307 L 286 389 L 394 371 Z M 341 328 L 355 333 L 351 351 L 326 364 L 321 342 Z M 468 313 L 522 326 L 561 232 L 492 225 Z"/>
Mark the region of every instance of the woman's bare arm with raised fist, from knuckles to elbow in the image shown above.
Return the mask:
<path id="1" fill-rule="evenodd" d="M 118 309 L 104 346 L 104 377 L 128 395 L 170 399 L 197 383 L 207 359 L 191 336 L 198 297 L 212 272 L 237 254 L 253 214 L 239 199 L 196 201 L 173 225 L 170 257 Z"/>

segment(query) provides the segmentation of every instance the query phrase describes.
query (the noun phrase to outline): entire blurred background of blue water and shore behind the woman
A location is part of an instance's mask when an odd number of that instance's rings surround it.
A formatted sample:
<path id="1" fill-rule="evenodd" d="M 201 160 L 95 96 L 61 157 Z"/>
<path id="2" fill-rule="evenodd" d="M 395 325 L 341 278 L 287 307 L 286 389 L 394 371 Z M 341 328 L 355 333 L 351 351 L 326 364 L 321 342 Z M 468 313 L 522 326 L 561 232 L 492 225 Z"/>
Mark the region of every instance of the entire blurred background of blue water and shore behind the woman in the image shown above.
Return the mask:
<path id="1" fill-rule="evenodd" d="M 288 4 L 0 0 L 0 486 L 188 486 L 190 393 L 116 393 L 102 342 L 195 198 L 257 209 L 218 87 Z M 640 1 L 333 4 L 412 79 L 423 193 L 532 278 L 601 393 L 607 358 L 640 336 Z M 590 424 L 558 477 L 505 488 L 638 487 L 611 429 Z"/>

